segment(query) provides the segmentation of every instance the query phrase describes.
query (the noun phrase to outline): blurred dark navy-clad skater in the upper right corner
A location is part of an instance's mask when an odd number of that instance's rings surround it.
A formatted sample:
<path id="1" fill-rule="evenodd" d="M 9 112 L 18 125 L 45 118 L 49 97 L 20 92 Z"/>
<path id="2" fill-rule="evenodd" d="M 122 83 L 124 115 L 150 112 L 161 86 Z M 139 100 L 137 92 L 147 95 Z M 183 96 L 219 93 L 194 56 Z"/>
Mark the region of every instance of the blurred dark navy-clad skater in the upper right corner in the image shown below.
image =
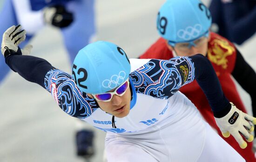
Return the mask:
<path id="1" fill-rule="evenodd" d="M 211 0 L 211 30 L 236 44 L 256 32 L 256 0 Z"/>

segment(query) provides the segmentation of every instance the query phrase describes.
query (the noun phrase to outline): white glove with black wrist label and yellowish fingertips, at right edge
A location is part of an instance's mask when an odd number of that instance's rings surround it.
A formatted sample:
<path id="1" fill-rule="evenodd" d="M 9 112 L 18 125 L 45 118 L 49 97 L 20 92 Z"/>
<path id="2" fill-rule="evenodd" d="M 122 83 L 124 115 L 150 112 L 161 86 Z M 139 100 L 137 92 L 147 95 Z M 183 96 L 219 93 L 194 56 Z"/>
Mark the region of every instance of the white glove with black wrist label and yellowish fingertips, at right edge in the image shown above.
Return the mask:
<path id="1" fill-rule="evenodd" d="M 232 102 L 230 104 L 231 110 L 229 113 L 222 118 L 215 118 L 216 124 L 222 131 L 223 137 L 229 137 L 231 134 L 236 139 L 236 142 L 239 143 L 240 147 L 244 149 L 247 147 L 247 143 L 243 140 L 243 137 L 248 142 L 252 142 L 254 139 L 251 132 L 254 131 L 253 125 L 256 125 L 256 118 L 237 109 Z"/>

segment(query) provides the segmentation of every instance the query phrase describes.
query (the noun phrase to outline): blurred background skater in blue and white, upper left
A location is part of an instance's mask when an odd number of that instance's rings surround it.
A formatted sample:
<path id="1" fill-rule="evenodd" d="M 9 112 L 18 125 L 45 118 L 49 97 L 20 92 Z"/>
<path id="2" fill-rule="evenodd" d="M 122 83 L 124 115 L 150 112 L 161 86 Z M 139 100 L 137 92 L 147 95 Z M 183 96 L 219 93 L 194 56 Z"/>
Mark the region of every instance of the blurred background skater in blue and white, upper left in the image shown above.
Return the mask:
<path id="1" fill-rule="evenodd" d="M 94 17 L 94 0 L 4 0 L 0 12 L 0 40 L 9 26 L 21 24 L 27 31 L 26 40 L 20 44 L 23 48 L 44 26 L 54 26 L 61 31 L 72 64 L 77 52 L 95 39 Z M 47 37 L 51 39 L 50 35 Z M 0 69 L 1 83 L 9 72 L 2 56 Z M 77 120 L 77 125 L 77 155 L 89 158 L 94 154 L 94 133 L 86 129 L 88 126 L 81 120 Z"/>

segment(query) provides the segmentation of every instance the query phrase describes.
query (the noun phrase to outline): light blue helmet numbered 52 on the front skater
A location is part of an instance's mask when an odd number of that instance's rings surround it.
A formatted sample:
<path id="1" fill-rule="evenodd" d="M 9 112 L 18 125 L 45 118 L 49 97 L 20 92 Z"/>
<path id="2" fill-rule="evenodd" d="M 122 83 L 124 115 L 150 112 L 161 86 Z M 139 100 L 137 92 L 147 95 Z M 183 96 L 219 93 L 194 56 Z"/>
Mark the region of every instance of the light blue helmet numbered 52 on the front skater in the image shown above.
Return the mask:
<path id="1" fill-rule="evenodd" d="M 124 50 L 98 41 L 81 49 L 74 59 L 73 78 L 85 93 L 105 93 L 126 81 L 131 70 Z"/>

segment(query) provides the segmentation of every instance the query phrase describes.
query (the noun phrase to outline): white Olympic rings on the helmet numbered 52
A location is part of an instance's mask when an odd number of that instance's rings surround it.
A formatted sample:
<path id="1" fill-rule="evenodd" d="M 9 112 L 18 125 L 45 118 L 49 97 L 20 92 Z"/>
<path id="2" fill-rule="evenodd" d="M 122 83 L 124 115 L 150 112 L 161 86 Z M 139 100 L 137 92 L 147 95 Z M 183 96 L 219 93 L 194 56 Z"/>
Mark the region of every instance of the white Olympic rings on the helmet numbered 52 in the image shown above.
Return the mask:
<path id="1" fill-rule="evenodd" d="M 112 75 L 110 80 L 105 79 L 102 81 L 102 86 L 113 89 L 125 81 L 125 76 L 125 71 L 120 71 L 118 75 Z"/>

